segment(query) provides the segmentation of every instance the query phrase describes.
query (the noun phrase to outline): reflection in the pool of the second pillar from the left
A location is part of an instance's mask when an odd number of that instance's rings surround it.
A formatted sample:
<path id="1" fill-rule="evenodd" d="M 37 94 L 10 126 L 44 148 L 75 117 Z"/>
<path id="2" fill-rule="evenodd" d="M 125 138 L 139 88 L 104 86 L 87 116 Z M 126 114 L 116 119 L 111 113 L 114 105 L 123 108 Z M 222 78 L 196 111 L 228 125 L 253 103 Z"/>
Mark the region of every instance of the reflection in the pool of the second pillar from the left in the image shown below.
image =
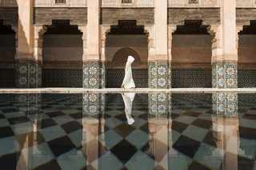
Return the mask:
<path id="1" fill-rule="evenodd" d="M 104 94 L 100 93 L 83 93 L 82 96 L 82 150 L 89 164 L 98 161 L 101 154 L 98 140 L 100 134 L 104 138 L 104 121 L 100 118 L 100 114 L 104 114 L 104 100 Z M 99 163 L 94 162 L 94 165 L 99 166 Z"/>

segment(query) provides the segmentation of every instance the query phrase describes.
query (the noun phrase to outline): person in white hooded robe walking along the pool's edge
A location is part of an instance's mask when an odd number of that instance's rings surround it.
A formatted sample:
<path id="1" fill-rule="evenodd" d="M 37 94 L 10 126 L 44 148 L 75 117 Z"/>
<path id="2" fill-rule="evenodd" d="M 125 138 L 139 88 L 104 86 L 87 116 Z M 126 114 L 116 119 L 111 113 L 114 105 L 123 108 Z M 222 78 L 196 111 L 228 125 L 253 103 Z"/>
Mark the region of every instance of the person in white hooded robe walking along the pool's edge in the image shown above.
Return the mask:
<path id="1" fill-rule="evenodd" d="M 126 69 L 125 69 L 125 77 L 122 81 L 122 88 L 124 89 L 134 89 L 134 79 L 133 79 L 133 73 L 131 69 L 131 64 L 134 62 L 134 57 L 128 56 L 127 62 L 126 62 Z"/>

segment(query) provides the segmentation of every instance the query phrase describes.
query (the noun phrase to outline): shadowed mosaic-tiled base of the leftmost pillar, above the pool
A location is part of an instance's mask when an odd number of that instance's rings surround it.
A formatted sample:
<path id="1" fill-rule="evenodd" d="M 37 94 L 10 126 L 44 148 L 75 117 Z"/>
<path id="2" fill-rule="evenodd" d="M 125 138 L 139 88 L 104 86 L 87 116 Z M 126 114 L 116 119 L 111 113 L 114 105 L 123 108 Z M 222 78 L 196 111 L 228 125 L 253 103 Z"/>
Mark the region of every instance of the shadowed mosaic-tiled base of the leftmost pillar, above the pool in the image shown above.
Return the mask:
<path id="1" fill-rule="evenodd" d="M 41 65 L 34 63 L 32 61 L 16 63 L 16 84 L 18 88 L 41 87 Z"/>

